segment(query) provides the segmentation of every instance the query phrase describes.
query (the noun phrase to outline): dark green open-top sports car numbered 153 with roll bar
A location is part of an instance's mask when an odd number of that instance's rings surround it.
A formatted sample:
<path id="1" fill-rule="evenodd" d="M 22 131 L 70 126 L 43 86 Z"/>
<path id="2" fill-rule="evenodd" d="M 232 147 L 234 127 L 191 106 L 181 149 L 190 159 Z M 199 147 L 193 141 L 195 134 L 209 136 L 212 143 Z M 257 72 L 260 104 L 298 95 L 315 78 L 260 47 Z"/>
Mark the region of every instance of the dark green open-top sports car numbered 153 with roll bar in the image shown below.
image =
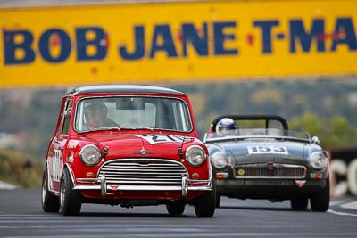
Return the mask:
<path id="1" fill-rule="evenodd" d="M 221 115 L 205 135 L 220 196 L 290 200 L 291 208 L 329 207 L 328 155 L 318 137 L 288 130 L 275 115 Z"/>

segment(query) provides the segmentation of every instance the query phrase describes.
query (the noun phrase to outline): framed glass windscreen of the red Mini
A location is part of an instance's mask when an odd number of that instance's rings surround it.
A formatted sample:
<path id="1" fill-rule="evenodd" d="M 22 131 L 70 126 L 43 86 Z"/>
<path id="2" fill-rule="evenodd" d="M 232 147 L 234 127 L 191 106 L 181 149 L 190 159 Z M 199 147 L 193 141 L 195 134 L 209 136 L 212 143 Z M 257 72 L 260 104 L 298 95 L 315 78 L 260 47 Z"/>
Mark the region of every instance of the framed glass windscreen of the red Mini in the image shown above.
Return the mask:
<path id="1" fill-rule="evenodd" d="M 75 130 L 152 128 L 192 131 L 187 103 L 180 99 L 145 96 L 91 97 L 76 107 Z"/>

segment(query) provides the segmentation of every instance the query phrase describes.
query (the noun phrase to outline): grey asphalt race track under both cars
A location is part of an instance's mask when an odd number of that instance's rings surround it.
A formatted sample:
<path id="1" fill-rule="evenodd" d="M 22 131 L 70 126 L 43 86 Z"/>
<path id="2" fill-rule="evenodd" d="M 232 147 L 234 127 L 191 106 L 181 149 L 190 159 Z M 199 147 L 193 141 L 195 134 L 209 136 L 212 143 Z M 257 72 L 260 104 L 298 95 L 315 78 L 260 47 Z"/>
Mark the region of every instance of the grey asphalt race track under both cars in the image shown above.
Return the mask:
<path id="1" fill-rule="evenodd" d="M 78 217 L 44 213 L 39 190 L 0 190 L 0 237 L 357 237 L 357 200 L 328 212 L 292 211 L 290 203 L 222 198 L 212 218 L 192 206 L 170 217 L 165 206 L 85 204 Z"/>

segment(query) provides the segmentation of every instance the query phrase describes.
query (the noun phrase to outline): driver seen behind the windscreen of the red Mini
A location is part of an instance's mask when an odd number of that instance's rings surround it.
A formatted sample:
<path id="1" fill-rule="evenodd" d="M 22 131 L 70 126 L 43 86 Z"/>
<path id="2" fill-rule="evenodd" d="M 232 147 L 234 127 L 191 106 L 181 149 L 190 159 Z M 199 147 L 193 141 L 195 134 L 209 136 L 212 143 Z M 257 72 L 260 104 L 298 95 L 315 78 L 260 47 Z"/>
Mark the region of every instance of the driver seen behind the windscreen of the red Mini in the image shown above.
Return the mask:
<path id="1" fill-rule="evenodd" d="M 102 102 L 94 102 L 85 107 L 85 127 L 89 129 L 99 127 L 118 127 L 111 119 L 107 118 L 108 108 Z"/>

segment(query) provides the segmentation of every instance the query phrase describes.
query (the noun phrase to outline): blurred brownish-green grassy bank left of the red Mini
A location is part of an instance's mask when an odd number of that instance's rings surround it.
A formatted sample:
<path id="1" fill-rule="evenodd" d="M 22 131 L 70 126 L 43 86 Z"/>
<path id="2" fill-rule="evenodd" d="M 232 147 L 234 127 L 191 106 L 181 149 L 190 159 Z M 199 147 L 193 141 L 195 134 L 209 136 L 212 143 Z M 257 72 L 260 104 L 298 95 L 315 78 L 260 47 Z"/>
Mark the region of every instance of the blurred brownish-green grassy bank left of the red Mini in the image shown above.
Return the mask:
<path id="1" fill-rule="evenodd" d="M 0 180 L 21 188 L 41 186 L 44 161 L 23 152 L 0 150 Z"/>

